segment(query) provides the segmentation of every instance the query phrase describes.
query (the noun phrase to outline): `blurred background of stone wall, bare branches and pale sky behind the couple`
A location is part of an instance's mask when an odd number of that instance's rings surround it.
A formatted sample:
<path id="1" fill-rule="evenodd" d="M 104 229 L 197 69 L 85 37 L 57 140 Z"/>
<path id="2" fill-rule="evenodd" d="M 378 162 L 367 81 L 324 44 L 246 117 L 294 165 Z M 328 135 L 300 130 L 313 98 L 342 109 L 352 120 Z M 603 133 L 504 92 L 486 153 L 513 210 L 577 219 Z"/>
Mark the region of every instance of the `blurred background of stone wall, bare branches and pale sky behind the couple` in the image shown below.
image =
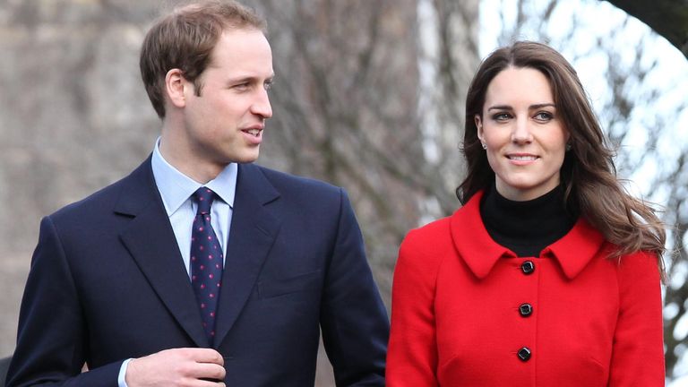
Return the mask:
<path id="1" fill-rule="evenodd" d="M 138 53 L 176 3 L 0 0 L 0 357 L 13 353 L 40 218 L 152 150 L 159 120 Z M 667 384 L 688 386 L 688 1 L 244 3 L 269 22 L 277 73 L 259 163 L 348 190 L 388 307 L 403 236 L 459 207 L 464 98 L 480 59 L 516 39 L 562 52 L 617 149 L 618 175 L 671 226 Z M 317 385 L 334 385 L 324 355 Z"/>

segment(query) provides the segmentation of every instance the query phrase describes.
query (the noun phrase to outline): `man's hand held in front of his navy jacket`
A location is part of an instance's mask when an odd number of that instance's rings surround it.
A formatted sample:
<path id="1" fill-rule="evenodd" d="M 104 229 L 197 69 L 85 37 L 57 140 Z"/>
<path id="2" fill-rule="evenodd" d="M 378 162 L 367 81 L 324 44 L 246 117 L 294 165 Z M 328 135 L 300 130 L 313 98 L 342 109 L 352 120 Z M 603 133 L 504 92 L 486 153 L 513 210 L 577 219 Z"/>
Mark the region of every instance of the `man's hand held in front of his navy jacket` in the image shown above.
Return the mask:
<path id="1" fill-rule="evenodd" d="M 131 360 L 129 387 L 219 387 L 225 383 L 224 359 L 215 349 L 174 348 Z"/>

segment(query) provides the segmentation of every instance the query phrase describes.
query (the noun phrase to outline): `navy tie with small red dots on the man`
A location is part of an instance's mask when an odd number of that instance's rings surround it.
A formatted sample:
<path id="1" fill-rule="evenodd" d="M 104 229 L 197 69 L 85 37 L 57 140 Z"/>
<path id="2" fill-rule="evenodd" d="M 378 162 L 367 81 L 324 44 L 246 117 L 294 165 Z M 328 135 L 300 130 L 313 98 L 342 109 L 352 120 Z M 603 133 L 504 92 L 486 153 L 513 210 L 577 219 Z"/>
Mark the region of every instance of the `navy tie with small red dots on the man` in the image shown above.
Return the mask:
<path id="1" fill-rule="evenodd" d="M 191 285 L 201 309 L 203 329 L 212 346 L 215 315 L 222 280 L 222 249 L 211 226 L 211 205 L 215 193 L 206 187 L 193 193 L 198 205 L 191 232 Z"/>

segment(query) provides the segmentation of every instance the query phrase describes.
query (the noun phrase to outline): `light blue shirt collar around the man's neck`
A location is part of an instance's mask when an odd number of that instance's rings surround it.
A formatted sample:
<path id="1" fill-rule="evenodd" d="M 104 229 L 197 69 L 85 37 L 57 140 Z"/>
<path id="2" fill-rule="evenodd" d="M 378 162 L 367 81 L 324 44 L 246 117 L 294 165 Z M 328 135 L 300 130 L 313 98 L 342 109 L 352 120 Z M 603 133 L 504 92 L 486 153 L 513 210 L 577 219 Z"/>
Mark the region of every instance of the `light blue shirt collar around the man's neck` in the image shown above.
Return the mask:
<path id="1" fill-rule="evenodd" d="M 162 197 L 162 202 L 165 204 L 165 210 L 168 212 L 168 216 L 175 213 L 179 207 L 186 202 L 189 196 L 202 186 L 210 188 L 217 193 L 223 202 L 228 203 L 229 207 L 234 208 L 237 174 L 236 163 L 228 164 L 218 176 L 207 184 L 202 185 L 170 165 L 160 153 L 159 142 L 160 139 L 155 142 L 155 148 L 153 149 L 153 155 L 150 162 L 153 169 L 153 176 L 155 177 L 155 184 L 158 185 L 158 190 Z"/>

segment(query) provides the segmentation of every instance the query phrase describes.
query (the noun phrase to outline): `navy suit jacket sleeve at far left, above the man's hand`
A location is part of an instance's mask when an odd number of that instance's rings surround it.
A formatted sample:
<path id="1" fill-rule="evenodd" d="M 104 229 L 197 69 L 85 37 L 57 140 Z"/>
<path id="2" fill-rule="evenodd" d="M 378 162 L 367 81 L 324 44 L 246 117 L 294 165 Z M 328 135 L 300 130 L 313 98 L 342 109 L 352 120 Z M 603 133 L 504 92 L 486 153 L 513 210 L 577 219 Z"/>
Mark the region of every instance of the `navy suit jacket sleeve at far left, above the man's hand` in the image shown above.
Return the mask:
<path id="1" fill-rule="evenodd" d="M 7 387 L 117 387 L 122 362 L 82 373 L 87 332 L 62 243 L 49 217 L 40 224 L 19 316 Z"/>

